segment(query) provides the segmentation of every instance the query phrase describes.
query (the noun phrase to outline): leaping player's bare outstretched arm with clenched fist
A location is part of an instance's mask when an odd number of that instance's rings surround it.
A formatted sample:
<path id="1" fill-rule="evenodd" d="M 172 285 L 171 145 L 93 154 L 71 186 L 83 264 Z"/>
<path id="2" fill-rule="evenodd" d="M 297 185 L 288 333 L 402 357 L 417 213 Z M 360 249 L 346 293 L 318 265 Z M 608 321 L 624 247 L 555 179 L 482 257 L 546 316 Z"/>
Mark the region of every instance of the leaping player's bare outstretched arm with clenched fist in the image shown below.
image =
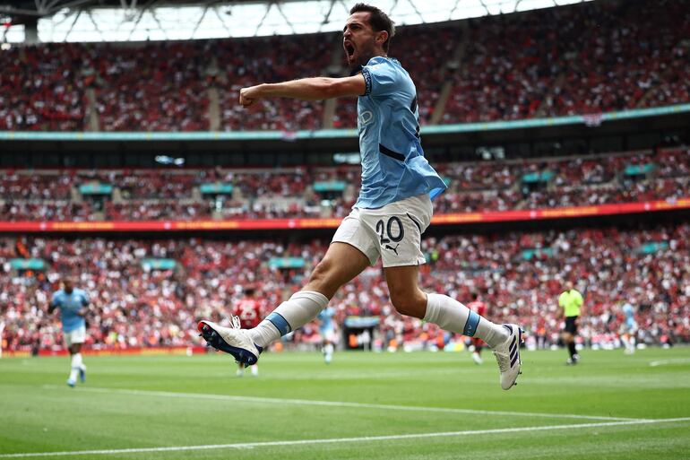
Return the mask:
<path id="1" fill-rule="evenodd" d="M 239 103 L 249 107 L 265 98 L 292 98 L 298 100 L 324 100 L 362 96 L 367 84 L 362 74 L 349 77 L 312 77 L 290 82 L 263 83 L 239 91 Z"/>

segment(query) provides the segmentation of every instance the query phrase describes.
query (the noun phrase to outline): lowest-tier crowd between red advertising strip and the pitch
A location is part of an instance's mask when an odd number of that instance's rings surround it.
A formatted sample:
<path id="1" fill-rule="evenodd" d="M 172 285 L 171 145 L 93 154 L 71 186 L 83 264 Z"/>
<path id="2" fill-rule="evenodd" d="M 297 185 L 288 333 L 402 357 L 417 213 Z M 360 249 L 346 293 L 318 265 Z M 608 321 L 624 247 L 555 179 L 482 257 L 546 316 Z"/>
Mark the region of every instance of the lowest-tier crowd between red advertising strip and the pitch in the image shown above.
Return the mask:
<path id="1" fill-rule="evenodd" d="M 615 340 L 621 305 L 636 309 L 641 340 L 690 341 L 690 224 L 463 234 L 424 239 L 422 286 L 467 302 L 479 292 L 497 322 L 518 322 L 531 337 L 556 344 L 562 318 L 557 297 L 565 281 L 584 292 L 580 322 L 586 343 Z M 46 313 L 60 276 L 77 277 L 93 311 L 89 341 L 94 347 L 200 344 L 199 318 L 224 321 L 246 286 L 259 293 L 264 314 L 298 290 L 323 257 L 327 241 L 0 238 L 0 315 L 11 350 L 59 347 L 56 317 Z M 651 249 L 650 249 L 651 247 Z M 300 257 L 304 268 L 282 269 L 272 257 Z M 14 257 L 40 258 L 45 272 L 12 268 Z M 155 269 L 144 259 L 173 259 L 175 268 Z M 392 308 L 380 265 L 368 268 L 332 299 L 337 322 L 378 317 L 375 343 L 424 348 L 460 340 L 435 325 L 401 317 Z M 312 343 L 307 325 L 289 344 Z"/>

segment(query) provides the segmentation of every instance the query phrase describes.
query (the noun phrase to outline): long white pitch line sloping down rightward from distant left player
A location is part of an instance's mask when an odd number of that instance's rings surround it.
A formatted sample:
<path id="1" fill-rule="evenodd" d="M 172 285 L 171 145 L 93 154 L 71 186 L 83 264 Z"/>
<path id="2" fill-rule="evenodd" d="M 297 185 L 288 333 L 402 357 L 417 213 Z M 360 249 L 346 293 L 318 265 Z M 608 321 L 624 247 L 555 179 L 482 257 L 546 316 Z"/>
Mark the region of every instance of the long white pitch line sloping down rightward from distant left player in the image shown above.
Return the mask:
<path id="1" fill-rule="evenodd" d="M 44 388 L 63 389 L 62 386 L 44 385 Z M 73 392 L 74 390 L 69 390 Z M 470 413 L 481 415 L 508 415 L 516 417 L 542 417 L 551 419 L 577 419 L 577 420 L 601 420 L 601 421 L 642 421 L 647 419 L 632 419 L 626 417 L 605 417 L 599 415 L 580 415 L 574 413 L 543 413 L 543 412 L 508 412 L 508 411 L 485 411 L 480 409 L 456 409 L 452 407 L 427 407 L 415 405 L 394 405 L 394 404 L 368 404 L 368 403 L 349 403 L 346 401 L 318 401 L 312 399 L 285 399 L 267 398 L 260 396 L 236 396 L 236 395 L 208 395 L 202 393 L 173 393 L 168 391 L 148 391 L 148 390 L 129 390 L 119 388 L 98 388 L 82 387 L 78 391 L 90 393 L 106 393 L 116 395 L 137 395 L 137 396 L 160 396 L 177 397 L 185 399 L 207 399 L 213 401 L 235 401 L 239 403 L 259 403 L 259 404 L 297 404 L 297 405 L 316 405 L 331 407 L 355 407 L 358 409 L 383 409 L 389 411 L 409 411 L 409 412 L 444 412 L 444 413 Z"/>

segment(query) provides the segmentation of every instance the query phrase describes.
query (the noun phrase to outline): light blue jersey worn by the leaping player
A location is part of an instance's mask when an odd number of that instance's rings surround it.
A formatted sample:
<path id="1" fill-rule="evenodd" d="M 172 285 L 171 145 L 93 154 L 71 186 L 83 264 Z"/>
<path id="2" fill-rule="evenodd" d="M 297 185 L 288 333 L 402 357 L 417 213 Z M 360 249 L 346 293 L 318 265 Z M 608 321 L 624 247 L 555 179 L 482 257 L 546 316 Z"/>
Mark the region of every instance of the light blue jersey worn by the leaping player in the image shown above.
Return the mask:
<path id="1" fill-rule="evenodd" d="M 410 196 L 433 199 L 446 186 L 424 158 L 419 142 L 417 90 L 392 57 L 362 67 L 367 91 L 357 102 L 362 187 L 355 207 L 376 209 Z"/>

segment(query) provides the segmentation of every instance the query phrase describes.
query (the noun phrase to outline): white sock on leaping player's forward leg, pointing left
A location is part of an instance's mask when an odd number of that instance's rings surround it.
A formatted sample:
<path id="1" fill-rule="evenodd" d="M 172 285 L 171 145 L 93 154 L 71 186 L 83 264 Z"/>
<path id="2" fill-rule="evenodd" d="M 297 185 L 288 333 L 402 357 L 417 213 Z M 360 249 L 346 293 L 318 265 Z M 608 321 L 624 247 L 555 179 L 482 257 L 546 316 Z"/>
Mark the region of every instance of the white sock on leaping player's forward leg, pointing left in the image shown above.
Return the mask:
<path id="1" fill-rule="evenodd" d="M 274 340 L 280 339 L 282 335 L 306 325 L 323 308 L 326 308 L 326 305 L 328 305 L 328 298 L 320 292 L 295 292 L 288 301 L 281 303 L 259 325 L 254 329 L 249 329 L 249 335 L 254 343 L 265 347 Z"/>

